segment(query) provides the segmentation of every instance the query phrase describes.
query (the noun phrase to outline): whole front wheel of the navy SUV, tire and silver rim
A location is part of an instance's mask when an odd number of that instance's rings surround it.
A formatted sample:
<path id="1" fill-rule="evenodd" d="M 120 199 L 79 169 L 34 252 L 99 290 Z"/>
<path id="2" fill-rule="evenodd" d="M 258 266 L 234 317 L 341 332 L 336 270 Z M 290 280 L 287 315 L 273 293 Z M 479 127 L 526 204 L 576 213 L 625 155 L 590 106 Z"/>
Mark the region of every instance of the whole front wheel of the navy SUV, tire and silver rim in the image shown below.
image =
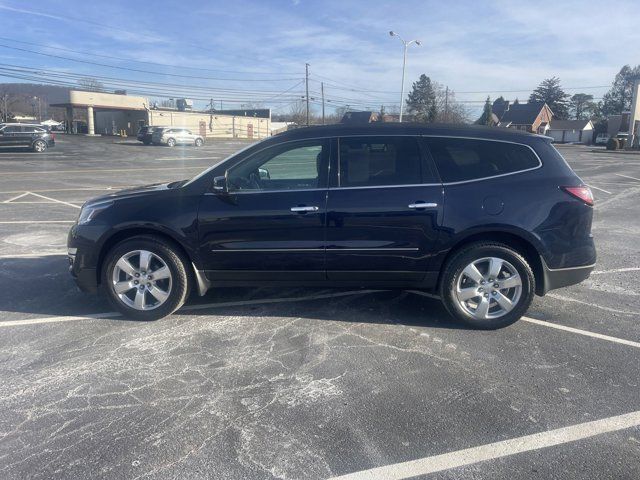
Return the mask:
<path id="1" fill-rule="evenodd" d="M 133 237 L 107 254 L 102 285 L 125 317 L 157 320 L 184 304 L 189 293 L 187 265 L 170 243 L 152 236 Z"/>

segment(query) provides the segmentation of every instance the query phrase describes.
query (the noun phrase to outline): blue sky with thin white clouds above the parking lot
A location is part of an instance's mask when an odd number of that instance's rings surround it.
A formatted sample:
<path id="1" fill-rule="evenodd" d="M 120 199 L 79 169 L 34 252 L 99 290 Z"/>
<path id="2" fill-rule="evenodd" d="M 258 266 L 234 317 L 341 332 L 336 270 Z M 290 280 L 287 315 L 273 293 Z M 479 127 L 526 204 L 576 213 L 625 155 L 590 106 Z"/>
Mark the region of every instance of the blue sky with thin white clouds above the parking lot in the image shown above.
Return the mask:
<path id="1" fill-rule="evenodd" d="M 305 62 L 314 99 L 324 81 L 329 105 L 398 104 L 402 44 L 389 30 L 423 43 L 410 49 L 407 87 L 426 73 L 467 102 L 526 99 L 550 76 L 598 98 L 623 64 L 640 63 L 632 1 L 0 0 L 0 25 L 2 64 L 145 82 L 141 92 L 225 107 L 286 110 L 304 94 Z"/>

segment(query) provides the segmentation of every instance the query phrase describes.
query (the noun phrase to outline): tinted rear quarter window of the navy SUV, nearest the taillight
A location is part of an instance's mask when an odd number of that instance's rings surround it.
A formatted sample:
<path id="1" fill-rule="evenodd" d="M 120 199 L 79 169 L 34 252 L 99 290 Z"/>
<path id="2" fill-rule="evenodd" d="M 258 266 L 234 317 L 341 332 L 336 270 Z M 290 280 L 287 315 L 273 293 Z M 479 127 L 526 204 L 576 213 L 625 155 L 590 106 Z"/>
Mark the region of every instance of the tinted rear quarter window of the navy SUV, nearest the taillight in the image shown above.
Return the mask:
<path id="1" fill-rule="evenodd" d="M 531 148 L 517 143 L 463 138 L 428 138 L 427 145 L 443 182 L 464 182 L 540 166 Z"/>

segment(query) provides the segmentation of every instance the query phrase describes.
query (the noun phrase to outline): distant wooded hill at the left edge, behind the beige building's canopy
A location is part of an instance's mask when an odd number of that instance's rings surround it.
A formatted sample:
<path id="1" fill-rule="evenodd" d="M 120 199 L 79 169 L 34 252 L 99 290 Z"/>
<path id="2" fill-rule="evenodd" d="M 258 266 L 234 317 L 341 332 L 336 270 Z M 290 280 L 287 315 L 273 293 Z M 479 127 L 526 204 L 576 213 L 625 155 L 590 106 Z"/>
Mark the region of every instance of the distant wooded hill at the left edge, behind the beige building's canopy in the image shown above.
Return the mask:
<path id="1" fill-rule="evenodd" d="M 64 119 L 64 109 L 50 108 L 52 103 L 62 103 L 69 98 L 68 87 L 60 87 L 57 85 L 44 85 L 37 83 L 0 83 L 0 99 L 7 95 L 7 109 L 13 115 L 33 115 L 34 104 L 37 100 L 33 97 L 40 98 L 40 108 L 42 110 L 42 119 L 53 117 L 55 120 Z M 37 112 L 37 106 L 35 112 Z M 0 104 L 0 110 L 2 104 Z"/>

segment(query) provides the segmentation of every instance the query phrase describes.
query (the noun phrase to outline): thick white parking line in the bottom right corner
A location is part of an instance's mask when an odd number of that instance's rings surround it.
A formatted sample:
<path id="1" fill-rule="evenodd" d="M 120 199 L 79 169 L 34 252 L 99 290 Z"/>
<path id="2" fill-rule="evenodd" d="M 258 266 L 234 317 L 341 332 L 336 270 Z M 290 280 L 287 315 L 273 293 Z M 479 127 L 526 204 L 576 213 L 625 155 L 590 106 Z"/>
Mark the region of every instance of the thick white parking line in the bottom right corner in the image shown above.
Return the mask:
<path id="1" fill-rule="evenodd" d="M 427 475 L 487 460 L 508 457 L 518 453 L 577 442 L 596 435 L 618 432 L 639 425 L 640 411 L 636 411 L 409 462 L 349 473 L 333 477 L 331 480 L 403 480 L 418 475 Z"/>

